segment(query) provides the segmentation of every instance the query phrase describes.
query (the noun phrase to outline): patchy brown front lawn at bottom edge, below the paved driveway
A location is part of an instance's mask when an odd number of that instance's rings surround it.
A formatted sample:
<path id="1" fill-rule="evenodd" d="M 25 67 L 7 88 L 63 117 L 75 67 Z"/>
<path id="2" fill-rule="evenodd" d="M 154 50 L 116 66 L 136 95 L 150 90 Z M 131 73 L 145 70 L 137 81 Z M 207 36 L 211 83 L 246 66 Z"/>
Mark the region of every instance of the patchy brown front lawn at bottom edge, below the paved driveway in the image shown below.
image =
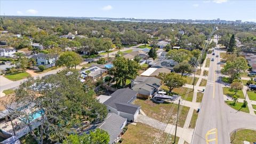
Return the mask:
<path id="1" fill-rule="evenodd" d="M 146 124 L 137 123 L 136 125 L 128 125 L 127 131 L 122 136 L 123 141 L 122 143 L 153 143 L 156 133 L 158 133 L 159 130 L 155 129 L 154 127 L 151 127 Z M 167 138 L 167 133 L 163 133 L 161 137 L 159 138 L 159 143 L 164 143 L 165 139 Z M 170 143 L 173 143 L 174 136 L 171 135 L 171 141 Z M 176 138 L 176 142 L 178 143 L 179 137 Z"/>

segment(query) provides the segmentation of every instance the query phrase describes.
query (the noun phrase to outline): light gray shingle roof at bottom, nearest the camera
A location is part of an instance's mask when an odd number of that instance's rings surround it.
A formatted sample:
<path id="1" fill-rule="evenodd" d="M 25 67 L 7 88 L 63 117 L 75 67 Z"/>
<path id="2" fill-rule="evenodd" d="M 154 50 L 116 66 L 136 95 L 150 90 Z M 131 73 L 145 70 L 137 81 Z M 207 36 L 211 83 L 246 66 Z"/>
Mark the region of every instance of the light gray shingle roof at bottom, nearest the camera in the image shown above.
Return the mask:
<path id="1" fill-rule="evenodd" d="M 107 118 L 99 124 L 98 128 L 107 131 L 110 137 L 109 143 L 113 143 L 118 135 L 123 131 L 121 127 L 125 121 L 127 121 L 126 118 L 114 113 L 108 113 Z"/>

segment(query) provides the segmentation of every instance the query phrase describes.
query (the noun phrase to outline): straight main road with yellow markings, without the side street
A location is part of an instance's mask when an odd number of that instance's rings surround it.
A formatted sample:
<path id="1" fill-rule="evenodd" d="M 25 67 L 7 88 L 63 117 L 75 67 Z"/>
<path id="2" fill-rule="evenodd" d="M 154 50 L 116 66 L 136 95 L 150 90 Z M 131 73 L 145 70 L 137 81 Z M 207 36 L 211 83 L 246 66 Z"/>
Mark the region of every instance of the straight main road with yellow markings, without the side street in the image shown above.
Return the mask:
<path id="1" fill-rule="evenodd" d="M 215 55 L 220 55 L 215 50 Z M 204 97 L 196 124 L 192 143 L 230 143 L 229 125 L 226 104 L 223 100 L 222 87 L 218 83 L 220 74 L 220 58 L 214 58 L 209 68 L 209 76 Z"/>

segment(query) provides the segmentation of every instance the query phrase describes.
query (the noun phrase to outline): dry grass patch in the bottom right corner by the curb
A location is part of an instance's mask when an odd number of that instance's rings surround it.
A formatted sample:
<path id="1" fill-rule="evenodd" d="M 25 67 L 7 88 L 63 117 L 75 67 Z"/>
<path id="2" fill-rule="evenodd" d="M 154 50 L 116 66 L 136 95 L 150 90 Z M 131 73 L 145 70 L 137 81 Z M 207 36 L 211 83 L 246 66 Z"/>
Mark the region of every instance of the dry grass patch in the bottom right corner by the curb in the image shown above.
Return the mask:
<path id="1" fill-rule="evenodd" d="M 237 130 L 236 133 L 230 135 L 230 141 L 232 144 L 241 144 L 244 143 L 243 141 L 253 143 L 256 141 L 256 131 L 248 129 Z"/>

